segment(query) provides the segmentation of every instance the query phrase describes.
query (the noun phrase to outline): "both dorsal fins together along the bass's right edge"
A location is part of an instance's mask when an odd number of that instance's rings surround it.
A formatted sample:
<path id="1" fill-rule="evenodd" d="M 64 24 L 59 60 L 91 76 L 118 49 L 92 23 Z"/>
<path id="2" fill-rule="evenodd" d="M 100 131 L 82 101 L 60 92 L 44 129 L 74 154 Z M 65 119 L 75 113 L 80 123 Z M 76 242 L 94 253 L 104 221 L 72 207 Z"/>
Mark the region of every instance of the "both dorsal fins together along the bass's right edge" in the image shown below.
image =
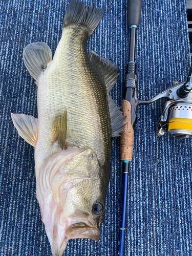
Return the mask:
<path id="1" fill-rule="evenodd" d="M 88 59 L 97 78 L 106 88 L 111 118 L 112 137 L 118 137 L 120 136 L 119 133 L 124 132 L 123 126 L 126 124 L 124 121 L 125 117 L 122 115 L 123 112 L 120 111 L 121 107 L 118 108 L 117 104 L 115 104 L 115 101 L 109 94 L 119 76 L 118 68 L 111 60 L 103 58 L 95 52 L 89 52 Z"/>

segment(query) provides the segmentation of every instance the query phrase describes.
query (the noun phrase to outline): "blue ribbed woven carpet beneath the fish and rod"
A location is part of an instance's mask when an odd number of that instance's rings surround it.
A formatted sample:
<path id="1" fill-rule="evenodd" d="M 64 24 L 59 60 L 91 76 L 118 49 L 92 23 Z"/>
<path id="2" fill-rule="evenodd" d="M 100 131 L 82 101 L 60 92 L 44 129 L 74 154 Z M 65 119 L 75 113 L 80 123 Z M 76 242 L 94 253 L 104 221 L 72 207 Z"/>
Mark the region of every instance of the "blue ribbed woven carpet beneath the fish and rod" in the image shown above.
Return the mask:
<path id="1" fill-rule="evenodd" d="M 0 255 L 49 255 L 51 248 L 35 195 L 34 149 L 17 134 L 10 113 L 37 117 L 37 88 L 22 59 L 30 42 L 45 41 L 55 52 L 69 0 L 0 2 Z M 84 0 L 104 7 L 88 50 L 112 59 L 120 76 L 112 91 L 121 104 L 129 33 L 126 1 Z M 137 36 L 138 94 L 148 99 L 185 80 L 189 42 L 184 0 L 143 0 Z M 159 140 L 154 219 L 156 124 L 163 100 L 139 106 L 133 163 L 129 175 L 125 255 L 192 255 L 191 139 Z M 113 139 L 112 172 L 99 242 L 71 240 L 65 256 L 116 256 L 120 212 L 119 138 Z M 152 233 L 154 219 L 154 242 Z"/>

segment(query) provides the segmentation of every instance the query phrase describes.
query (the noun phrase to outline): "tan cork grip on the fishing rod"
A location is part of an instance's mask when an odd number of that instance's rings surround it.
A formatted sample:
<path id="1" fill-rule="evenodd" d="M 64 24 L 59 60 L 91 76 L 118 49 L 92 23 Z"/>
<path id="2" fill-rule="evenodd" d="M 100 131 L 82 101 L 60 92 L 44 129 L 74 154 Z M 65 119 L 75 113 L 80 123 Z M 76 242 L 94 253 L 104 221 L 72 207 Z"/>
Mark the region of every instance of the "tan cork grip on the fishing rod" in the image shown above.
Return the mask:
<path id="1" fill-rule="evenodd" d="M 120 137 L 120 157 L 121 161 L 132 161 L 134 130 L 131 123 L 131 103 L 128 100 L 122 100 L 122 108 L 126 124 L 123 126 L 124 133 Z"/>

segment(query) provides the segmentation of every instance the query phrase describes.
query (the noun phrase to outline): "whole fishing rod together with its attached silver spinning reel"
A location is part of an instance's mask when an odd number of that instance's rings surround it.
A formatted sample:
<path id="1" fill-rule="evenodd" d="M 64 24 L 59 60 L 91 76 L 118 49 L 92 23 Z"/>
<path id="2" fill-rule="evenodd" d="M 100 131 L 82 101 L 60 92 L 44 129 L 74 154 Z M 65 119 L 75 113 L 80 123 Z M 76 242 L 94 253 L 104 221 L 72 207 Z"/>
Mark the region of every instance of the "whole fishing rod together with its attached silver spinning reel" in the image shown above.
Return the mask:
<path id="1" fill-rule="evenodd" d="M 126 125 L 120 137 L 120 158 L 122 161 L 122 205 L 119 224 L 118 255 L 124 256 L 126 231 L 126 202 L 128 190 L 128 174 L 133 156 L 134 126 L 136 123 L 137 106 L 151 104 L 166 98 L 162 115 L 157 124 L 157 134 L 162 136 L 165 131 L 176 139 L 192 137 L 192 61 L 187 80 L 174 81 L 172 87 L 157 94 L 149 100 L 137 98 L 137 76 L 135 66 L 136 31 L 141 20 L 142 0 L 127 0 L 127 26 L 130 29 L 130 53 L 126 66 L 125 90 L 122 100 L 122 111 Z"/>

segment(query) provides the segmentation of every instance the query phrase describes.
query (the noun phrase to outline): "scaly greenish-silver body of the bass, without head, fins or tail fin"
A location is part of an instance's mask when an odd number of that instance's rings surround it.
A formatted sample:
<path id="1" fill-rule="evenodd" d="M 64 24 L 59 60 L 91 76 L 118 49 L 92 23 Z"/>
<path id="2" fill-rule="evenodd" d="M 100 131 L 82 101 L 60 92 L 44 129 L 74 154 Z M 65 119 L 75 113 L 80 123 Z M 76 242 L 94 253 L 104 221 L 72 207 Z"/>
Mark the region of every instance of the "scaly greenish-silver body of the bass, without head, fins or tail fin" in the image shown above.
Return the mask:
<path id="1" fill-rule="evenodd" d="M 52 144 L 52 124 L 57 113 L 67 108 L 66 142 L 89 146 L 101 164 L 110 158 L 109 107 L 106 91 L 89 66 L 85 42 L 87 32 L 63 29 L 53 60 L 38 83 L 38 141 L 36 172 L 45 160 L 61 151 Z"/>

